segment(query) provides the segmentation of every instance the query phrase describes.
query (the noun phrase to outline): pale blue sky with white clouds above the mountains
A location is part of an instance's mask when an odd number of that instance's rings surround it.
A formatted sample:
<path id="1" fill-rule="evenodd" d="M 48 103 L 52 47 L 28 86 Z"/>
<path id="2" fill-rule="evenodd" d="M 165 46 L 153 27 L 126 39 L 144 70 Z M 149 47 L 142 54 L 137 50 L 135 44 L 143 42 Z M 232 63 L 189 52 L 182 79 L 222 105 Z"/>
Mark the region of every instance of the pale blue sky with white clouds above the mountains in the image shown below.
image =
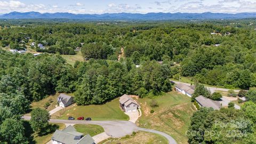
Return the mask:
<path id="1" fill-rule="evenodd" d="M 240 13 L 256 12 L 256 0 L 0 0 L 0 13 Z"/>

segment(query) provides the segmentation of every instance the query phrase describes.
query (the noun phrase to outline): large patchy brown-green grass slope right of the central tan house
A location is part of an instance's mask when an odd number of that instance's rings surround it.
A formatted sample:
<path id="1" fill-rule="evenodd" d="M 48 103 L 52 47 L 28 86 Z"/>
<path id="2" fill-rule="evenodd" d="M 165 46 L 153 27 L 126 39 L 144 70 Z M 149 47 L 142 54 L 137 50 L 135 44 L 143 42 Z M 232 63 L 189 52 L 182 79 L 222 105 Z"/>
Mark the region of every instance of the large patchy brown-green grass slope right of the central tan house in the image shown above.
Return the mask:
<path id="1" fill-rule="evenodd" d="M 178 143 L 187 143 L 186 131 L 190 125 L 190 117 L 196 110 L 191 99 L 175 91 L 154 98 L 158 107 L 150 107 L 151 99 L 139 99 L 143 115 L 138 125 L 147 129 L 155 129 L 170 134 Z M 153 109 L 155 112 L 150 113 Z"/>

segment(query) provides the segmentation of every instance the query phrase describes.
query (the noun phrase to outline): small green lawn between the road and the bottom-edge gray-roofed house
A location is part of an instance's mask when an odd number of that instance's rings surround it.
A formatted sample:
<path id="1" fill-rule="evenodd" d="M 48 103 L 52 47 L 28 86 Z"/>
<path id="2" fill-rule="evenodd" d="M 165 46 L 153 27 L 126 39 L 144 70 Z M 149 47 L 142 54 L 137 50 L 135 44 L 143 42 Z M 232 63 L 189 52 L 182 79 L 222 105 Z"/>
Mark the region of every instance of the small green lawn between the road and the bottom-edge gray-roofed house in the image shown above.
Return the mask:
<path id="1" fill-rule="evenodd" d="M 93 124 L 75 124 L 74 125 L 76 131 L 83 133 L 84 135 L 90 134 L 91 137 L 94 135 L 100 134 L 104 132 L 103 127 L 99 125 L 93 125 Z"/>

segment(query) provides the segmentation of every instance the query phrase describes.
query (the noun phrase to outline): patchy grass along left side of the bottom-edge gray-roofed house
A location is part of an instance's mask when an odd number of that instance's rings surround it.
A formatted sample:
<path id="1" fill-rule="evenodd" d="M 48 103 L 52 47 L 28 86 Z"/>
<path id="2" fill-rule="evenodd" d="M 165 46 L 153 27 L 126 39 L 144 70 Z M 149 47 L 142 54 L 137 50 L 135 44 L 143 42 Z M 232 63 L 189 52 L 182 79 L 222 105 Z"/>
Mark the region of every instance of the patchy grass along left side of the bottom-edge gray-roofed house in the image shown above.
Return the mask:
<path id="1" fill-rule="evenodd" d="M 59 127 L 58 128 L 59 130 L 63 130 L 66 127 L 65 124 L 60 124 L 60 123 L 51 123 L 51 124 Z M 25 135 L 29 139 L 30 144 L 34 144 L 34 143 L 45 144 L 45 143 L 47 143 L 48 141 L 51 140 L 52 135 L 54 133 L 54 131 L 52 131 L 49 134 L 46 134 L 46 135 L 43 135 L 42 137 L 39 137 L 36 133 L 33 132 L 33 130 L 32 130 L 28 121 L 24 121 L 24 125 L 25 125 L 25 130 L 26 130 Z"/>

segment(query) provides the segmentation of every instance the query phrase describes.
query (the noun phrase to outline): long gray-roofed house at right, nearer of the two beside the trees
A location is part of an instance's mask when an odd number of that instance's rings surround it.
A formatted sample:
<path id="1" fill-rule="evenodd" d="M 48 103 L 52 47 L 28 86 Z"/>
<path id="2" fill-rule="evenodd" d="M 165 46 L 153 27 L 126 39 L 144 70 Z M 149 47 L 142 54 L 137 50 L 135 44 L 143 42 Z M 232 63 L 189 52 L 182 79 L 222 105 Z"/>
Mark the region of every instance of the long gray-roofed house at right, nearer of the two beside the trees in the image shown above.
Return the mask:
<path id="1" fill-rule="evenodd" d="M 219 110 L 222 107 L 219 101 L 205 98 L 203 95 L 196 97 L 195 100 L 200 107 L 213 108 L 215 110 Z"/>

